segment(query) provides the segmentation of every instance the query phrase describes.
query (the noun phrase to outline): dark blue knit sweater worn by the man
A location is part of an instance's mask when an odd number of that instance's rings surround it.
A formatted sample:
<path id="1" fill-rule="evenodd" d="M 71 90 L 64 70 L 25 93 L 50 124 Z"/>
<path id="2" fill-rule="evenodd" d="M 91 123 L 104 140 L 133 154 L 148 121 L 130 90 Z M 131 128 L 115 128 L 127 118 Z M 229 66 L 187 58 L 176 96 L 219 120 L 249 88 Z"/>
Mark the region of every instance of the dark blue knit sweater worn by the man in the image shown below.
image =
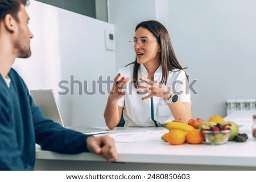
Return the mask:
<path id="1" fill-rule="evenodd" d="M 0 170 L 34 170 L 35 143 L 63 154 L 88 151 L 82 133 L 46 118 L 14 69 L 10 87 L 0 75 Z"/>

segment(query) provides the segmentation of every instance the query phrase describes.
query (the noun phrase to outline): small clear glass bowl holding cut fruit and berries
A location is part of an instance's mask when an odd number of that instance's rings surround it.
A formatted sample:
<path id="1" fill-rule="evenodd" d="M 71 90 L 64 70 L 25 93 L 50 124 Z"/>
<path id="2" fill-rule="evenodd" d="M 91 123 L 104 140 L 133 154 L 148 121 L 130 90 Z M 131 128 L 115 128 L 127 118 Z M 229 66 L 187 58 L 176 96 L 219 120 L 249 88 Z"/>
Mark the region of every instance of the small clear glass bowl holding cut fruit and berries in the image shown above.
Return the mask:
<path id="1" fill-rule="evenodd" d="M 221 130 L 221 131 L 203 131 L 205 141 L 212 145 L 220 145 L 228 142 L 230 130 Z"/>

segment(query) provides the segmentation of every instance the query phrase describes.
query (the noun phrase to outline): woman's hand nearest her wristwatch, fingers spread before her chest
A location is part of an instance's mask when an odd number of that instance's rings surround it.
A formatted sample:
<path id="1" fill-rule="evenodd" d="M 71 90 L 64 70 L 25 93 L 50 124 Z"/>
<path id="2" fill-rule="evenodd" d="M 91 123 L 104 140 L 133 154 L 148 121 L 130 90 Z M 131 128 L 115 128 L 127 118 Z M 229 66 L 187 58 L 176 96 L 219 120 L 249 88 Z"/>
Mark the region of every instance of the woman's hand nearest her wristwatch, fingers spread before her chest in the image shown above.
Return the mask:
<path id="1" fill-rule="evenodd" d="M 139 78 L 139 80 L 142 83 L 139 83 L 138 87 L 143 90 L 137 91 L 137 94 L 149 94 L 142 98 L 142 100 L 151 98 L 152 96 L 169 99 L 174 94 L 171 87 L 167 87 L 165 84 L 156 83 L 156 81 L 151 81 L 147 78 Z"/>

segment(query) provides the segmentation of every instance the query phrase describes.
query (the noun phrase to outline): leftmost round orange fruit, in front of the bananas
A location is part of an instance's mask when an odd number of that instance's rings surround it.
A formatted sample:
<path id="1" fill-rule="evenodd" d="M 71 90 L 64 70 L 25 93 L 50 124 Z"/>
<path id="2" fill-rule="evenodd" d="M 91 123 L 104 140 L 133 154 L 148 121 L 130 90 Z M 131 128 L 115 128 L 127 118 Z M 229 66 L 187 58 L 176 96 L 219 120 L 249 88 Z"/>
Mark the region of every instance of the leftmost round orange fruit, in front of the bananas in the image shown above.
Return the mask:
<path id="1" fill-rule="evenodd" d="M 167 141 L 171 145 L 181 145 L 185 142 L 187 132 L 183 132 L 180 129 L 172 129 L 168 133 Z"/>

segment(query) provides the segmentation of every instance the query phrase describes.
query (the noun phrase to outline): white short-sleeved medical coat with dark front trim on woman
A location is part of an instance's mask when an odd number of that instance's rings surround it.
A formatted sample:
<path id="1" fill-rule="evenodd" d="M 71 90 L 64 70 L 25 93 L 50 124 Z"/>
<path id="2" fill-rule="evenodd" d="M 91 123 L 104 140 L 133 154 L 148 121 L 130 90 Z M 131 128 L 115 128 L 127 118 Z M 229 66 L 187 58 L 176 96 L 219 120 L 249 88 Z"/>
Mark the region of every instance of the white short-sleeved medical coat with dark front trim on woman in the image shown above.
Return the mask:
<path id="1" fill-rule="evenodd" d="M 133 84 L 134 64 L 128 65 L 118 70 L 121 77 L 129 77 L 130 81 L 126 84 L 126 95 L 118 100 L 118 106 L 123 107 L 123 118 L 125 126 L 162 126 L 167 121 L 174 120 L 166 101 L 163 98 L 153 96 L 142 100 L 148 94 L 139 95 Z M 141 64 L 138 71 L 138 78 L 147 78 L 147 70 Z M 162 66 L 160 65 L 154 74 L 154 81 L 159 83 L 162 79 Z M 184 70 L 169 71 L 167 86 L 171 87 L 179 97 L 181 102 L 191 103 L 190 92 Z"/>

